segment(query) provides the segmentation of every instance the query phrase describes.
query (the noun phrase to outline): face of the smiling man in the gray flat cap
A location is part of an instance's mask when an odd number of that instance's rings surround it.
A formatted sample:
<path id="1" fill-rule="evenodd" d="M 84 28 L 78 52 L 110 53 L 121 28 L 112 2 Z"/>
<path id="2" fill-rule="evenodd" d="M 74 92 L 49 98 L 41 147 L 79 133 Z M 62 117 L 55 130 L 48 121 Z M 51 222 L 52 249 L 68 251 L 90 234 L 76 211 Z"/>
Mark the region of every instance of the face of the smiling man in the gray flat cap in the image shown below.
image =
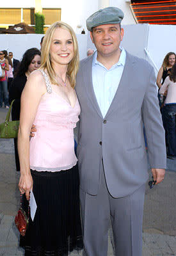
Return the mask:
<path id="1" fill-rule="evenodd" d="M 97 48 L 98 54 L 112 56 L 118 52 L 120 42 L 124 36 L 124 29 L 119 24 L 105 24 L 92 29 L 90 37 Z"/>

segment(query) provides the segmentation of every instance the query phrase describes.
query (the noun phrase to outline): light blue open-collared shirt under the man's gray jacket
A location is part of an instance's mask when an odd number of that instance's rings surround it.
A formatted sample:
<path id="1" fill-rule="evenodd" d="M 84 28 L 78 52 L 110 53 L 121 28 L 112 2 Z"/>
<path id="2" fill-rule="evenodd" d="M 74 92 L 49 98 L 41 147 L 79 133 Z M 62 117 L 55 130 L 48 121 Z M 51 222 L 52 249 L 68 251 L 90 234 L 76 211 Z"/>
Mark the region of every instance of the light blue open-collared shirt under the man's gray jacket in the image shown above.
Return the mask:
<path id="1" fill-rule="evenodd" d="M 115 63 L 109 70 L 97 61 L 97 52 L 93 56 L 92 62 L 92 83 L 95 97 L 99 104 L 102 116 L 106 116 L 108 109 L 115 97 L 118 84 L 124 70 L 126 52 L 121 47 L 121 54 L 118 63 Z"/>

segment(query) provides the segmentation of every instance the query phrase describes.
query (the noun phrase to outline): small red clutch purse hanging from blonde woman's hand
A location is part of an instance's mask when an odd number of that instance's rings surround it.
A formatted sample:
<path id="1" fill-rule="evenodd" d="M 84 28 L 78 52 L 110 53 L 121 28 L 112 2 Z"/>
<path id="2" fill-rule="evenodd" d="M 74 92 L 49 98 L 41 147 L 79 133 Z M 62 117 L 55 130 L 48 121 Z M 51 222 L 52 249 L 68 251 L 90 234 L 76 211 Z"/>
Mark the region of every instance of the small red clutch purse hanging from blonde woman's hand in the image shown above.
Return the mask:
<path id="1" fill-rule="evenodd" d="M 29 207 L 28 207 L 28 217 L 26 212 L 22 209 L 22 194 L 20 195 L 20 209 L 15 216 L 15 225 L 18 228 L 21 236 L 25 236 L 26 230 L 29 225 Z"/>

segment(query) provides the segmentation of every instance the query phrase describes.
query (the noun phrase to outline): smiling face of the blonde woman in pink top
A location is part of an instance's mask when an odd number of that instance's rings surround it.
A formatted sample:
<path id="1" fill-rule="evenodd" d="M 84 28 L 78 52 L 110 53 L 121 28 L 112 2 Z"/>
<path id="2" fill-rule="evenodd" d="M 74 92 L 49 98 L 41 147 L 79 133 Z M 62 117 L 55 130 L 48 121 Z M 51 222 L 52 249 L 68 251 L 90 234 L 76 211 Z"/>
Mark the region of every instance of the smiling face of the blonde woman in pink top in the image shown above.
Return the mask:
<path id="1" fill-rule="evenodd" d="M 63 28 L 57 28 L 52 36 L 50 47 L 53 65 L 68 65 L 74 57 L 74 43 L 72 35 Z"/>

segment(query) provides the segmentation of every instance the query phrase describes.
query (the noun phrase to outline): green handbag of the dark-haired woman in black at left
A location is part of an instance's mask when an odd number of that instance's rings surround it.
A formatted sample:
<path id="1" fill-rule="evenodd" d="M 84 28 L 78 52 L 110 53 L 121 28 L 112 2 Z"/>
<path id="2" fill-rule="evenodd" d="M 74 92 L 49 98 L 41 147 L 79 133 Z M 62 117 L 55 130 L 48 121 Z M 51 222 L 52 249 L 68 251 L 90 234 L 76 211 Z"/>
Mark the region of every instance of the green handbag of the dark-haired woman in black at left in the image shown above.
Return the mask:
<path id="1" fill-rule="evenodd" d="M 19 121 L 9 121 L 13 102 L 14 100 L 10 104 L 5 122 L 0 124 L 0 138 L 3 139 L 17 138 L 18 136 Z"/>

